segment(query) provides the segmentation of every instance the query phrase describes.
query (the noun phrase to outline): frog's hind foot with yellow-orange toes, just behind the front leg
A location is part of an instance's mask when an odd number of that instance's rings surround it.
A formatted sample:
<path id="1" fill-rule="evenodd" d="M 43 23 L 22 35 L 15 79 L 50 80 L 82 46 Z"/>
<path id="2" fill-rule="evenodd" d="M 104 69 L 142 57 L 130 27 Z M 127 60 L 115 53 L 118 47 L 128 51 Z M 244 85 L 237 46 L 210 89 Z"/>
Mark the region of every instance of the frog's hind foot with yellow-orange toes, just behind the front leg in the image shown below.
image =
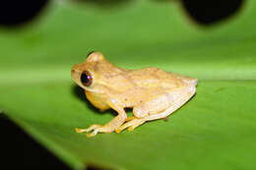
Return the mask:
<path id="1" fill-rule="evenodd" d="M 128 128 L 128 131 L 133 131 L 136 127 L 142 125 L 147 120 L 145 118 L 129 117 L 126 123 L 115 130 L 116 133 L 120 133 L 124 129 Z"/>

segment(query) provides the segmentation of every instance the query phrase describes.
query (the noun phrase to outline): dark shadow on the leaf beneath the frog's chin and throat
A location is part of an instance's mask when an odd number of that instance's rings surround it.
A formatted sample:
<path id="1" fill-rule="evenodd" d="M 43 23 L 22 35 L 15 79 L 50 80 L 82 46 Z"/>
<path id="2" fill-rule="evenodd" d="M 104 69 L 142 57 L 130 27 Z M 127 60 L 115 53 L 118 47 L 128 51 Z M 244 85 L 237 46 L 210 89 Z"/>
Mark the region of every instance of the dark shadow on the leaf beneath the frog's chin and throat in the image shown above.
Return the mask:
<path id="1" fill-rule="evenodd" d="M 85 90 L 80 87 L 79 85 L 72 85 L 72 92 L 73 94 L 83 101 L 86 104 L 86 107 L 90 108 L 93 110 L 95 113 L 102 114 L 86 97 Z M 109 109 L 104 113 L 111 113 L 112 115 L 116 116 L 116 112 L 113 109 Z"/>

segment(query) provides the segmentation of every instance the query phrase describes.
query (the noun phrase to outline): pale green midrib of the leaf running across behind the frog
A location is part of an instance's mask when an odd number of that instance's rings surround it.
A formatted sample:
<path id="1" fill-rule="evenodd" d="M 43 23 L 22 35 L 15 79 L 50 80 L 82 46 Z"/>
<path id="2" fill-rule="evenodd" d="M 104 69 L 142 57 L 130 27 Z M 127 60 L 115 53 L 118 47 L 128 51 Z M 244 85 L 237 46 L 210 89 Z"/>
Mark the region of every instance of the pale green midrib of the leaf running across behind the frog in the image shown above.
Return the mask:
<path id="1" fill-rule="evenodd" d="M 139 69 L 143 67 L 134 66 L 132 63 L 120 64 L 129 69 Z M 147 65 L 151 66 L 149 63 Z M 153 66 L 156 64 L 153 64 Z M 179 73 L 199 79 L 200 81 L 256 81 L 256 68 L 253 66 L 239 67 L 220 67 L 218 65 L 209 65 L 208 69 L 201 68 L 202 64 L 159 64 L 159 68 L 168 71 Z M 208 65 L 208 64 L 205 64 Z M 156 66 L 157 67 L 157 66 Z M 170 70 L 171 68 L 171 70 Z M 41 67 L 33 69 L 17 69 L 17 70 L 0 70 L 0 85 L 26 85 L 40 83 L 59 83 L 72 82 L 70 74 L 71 66 L 61 67 L 56 69 Z"/>

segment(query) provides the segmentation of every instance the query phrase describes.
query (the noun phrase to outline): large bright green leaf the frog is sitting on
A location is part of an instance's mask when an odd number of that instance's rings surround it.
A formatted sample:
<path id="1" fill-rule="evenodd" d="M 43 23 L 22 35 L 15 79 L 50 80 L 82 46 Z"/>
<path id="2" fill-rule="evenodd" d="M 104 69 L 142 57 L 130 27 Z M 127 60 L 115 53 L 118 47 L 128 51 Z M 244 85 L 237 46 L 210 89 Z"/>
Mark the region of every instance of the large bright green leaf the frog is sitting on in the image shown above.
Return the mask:
<path id="1" fill-rule="evenodd" d="M 138 1 L 112 11 L 51 3 L 38 24 L 0 30 L 0 109 L 74 169 L 252 169 L 255 15 L 248 1 L 207 29 L 191 23 L 178 2 Z M 114 117 L 99 113 L 71 80 L 71 67 L 92 50 L 122 68 L 198 78 L 197 94 L 167 122 L 91 139 L 76 134 L 76 127 Z"/>

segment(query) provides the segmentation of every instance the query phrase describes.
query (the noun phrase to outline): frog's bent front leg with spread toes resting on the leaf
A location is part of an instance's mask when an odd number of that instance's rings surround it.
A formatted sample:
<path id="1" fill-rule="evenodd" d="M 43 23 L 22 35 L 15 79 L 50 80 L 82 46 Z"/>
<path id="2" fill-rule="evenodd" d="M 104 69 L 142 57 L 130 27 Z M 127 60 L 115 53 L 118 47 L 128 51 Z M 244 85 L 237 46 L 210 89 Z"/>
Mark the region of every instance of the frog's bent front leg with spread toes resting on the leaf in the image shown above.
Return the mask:
<path id="1" fill-rule="evenodd" d="M 106 125 L 91 125 L 89 128 L 87 129 L 79 129 L 76 128 L 76 132 L 77 133 L 89 133 L 91 131 L 93 131 L 93 133 L 91 134 L 87 134 L 87 137 L 94 137 L 96 136 L 97 133 L 111 133 L 113 131 L 115 131 L 116 129 L 118 129 L 126 120 L 127 115 L 126 112 L 124 111 L 124 108 L 119 106 L 117 103 L 111 101 L 108 103 L 109 106 L 114 109 L 115 111 L 118 112 L 118 115 L 112 119 L 110 122 L 108 122 Z"/>

